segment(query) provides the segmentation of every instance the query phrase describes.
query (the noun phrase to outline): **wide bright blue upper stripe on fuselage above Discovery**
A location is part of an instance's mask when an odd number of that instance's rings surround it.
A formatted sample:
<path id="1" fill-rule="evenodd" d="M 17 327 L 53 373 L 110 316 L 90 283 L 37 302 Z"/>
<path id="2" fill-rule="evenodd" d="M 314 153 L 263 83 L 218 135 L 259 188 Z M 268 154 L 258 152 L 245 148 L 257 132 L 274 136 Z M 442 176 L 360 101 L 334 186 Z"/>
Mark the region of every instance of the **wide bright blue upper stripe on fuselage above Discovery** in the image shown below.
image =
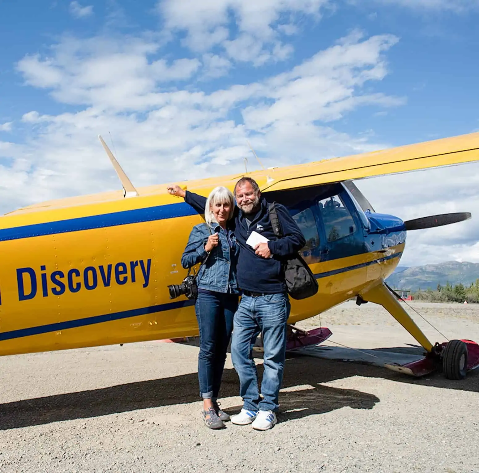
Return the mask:
<path id="1" fill-rule="evenodd" d="M 58 233 L 78 232 L 93 228 L 137 224 L 164 220 L 166 218 L 196 215 L 193 207 L 187 203 L 170 203 L 142 209 L 124 210 L 111 214 L 91 215 L 88 217 L 70 218 L 57 222 L 45 222 L 0 229 L 0 241 L 18 240 L 33 236 L 56 235 Z"/>

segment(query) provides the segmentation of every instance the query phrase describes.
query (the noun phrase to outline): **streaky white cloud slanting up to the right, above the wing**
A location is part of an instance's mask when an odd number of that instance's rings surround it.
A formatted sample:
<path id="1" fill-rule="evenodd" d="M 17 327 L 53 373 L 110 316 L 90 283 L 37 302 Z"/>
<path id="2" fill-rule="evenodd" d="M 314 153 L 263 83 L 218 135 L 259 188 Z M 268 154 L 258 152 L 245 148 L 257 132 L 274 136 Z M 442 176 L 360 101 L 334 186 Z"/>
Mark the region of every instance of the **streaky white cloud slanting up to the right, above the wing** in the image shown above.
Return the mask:
<path id="1" fill-rule="evenodd" d="M 340 119 L 359 105 L 400 105 L 403 100 L 383 94 L 357 94 L 368 80 L 386 75 L 382 56 L 397 38 L 374 36 L 365 41 L 355 33 L 341 44 L 321 51 L 297 66 L 267 82 L 267 99 L 272 103 L 255 104 L 244 112 L 245 124 L 264 130 L 277 121 L 293 123 Z M 271 100 L 270 100 L 271 101 Z"/>

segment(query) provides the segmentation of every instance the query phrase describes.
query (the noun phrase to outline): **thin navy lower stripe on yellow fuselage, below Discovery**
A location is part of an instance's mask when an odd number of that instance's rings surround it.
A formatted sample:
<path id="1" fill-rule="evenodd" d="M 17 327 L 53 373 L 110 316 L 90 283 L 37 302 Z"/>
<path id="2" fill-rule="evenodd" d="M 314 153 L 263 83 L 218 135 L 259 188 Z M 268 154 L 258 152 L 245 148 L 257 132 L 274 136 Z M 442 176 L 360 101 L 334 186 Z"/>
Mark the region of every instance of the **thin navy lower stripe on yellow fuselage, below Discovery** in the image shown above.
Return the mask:
<path id="1" fill-rule="evenodd" d="M 374 259 L 373 261 L 367 261 L 365 263 L 356 264 L 354 266 L 347 266 L 345 268 L 339 268 L 337 270 L 318 273 L 318 274 L 315 274 L 315 277 L 317 279 L 326 278 L 334 274 L 339 274 L 342 272 L 364 268 L 365 266 L 386 261 L 388 259 L 400 258 L 401 255 L 402 255 L 401 252 L 395 253 L 394 255 L 389 255 L 380 259 Z M 10 332 L 0 333 L 0 341 L 11 340 L 12 338 L 29 337 L 31 335 L 40 335 L 40 334 L 44 334 L 48 332 L 58 332 L 60 330 L 66 330 L 68 328 L 78 328 L 78 327 L 84 327 L 87 325 L 101 324 L 103 322 L 111 322 L 113 320 L 120 320 L 124 318 L 129 318 L 129 317 L 137 317 L 138 315 L 156 314 L 158 312 L 164 312 L 167 310 L 180 309 L 182 307 L 187 307 L 189 305 L 194 305 L 194 301 L 186 300 L 186 301 L 170 302 L 168 304 L 151 305 L 149 307 L 141 307 L 139 309 L 125 310 L 122 312 L 115 312 L 113 314 L 93 315 L 92 317 L 85 317 L 85 318 L 75 319 L 75 320 L 67 320 L 66 322 L 58 322 L 56 324 L 47 324 L 47 325 L 40 325 L 37 327 L 21 328 L 19 330 L 11 330 Z"/>

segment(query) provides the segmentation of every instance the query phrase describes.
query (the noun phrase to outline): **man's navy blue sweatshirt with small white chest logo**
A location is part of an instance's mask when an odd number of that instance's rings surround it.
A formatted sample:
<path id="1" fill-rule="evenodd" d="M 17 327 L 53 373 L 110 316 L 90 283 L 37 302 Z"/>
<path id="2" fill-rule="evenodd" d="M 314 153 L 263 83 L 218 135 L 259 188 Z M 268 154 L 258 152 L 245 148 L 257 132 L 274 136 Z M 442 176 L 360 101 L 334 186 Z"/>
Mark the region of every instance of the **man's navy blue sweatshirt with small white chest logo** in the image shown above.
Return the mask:
<path id="1" fill-rule="evenodd" d="M 199 214 L 205 213 L 206 197 L 186 191 L 184 198 Z M 254 293 L 285 293 L 286 286 L 282 270 L 285 257 L 297 253 L 304 247 L 306 240 L 284 205 L 276 204 L 279 223 L 283 236 L 278 239 L 271 225 L 268 203 L 264 197 L 260 200 L 260 209 L 256 214 L 244 214 L 235 206 L 233 219 L 230 221 L 239 244 L 237 266 L 238 285 L 241 289 Z M 248 223 L 245 217 L 251 221 Z M 262 258 L 246 244 L 251 232 L 255 231 L 270 240 L 268 247 L 273 258 Z"/>

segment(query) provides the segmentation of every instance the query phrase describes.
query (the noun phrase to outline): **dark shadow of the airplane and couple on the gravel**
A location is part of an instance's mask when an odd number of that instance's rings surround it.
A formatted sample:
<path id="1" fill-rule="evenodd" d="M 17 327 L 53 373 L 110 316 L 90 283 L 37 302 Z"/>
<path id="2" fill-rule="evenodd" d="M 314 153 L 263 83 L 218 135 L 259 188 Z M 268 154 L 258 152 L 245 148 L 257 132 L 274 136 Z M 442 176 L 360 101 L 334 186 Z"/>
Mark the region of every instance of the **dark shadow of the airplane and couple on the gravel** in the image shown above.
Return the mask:
<path id="1" fill-rule="evenodd" d="M 414 353 L 417 347 L 410 347 Z M 404 350 L 404 348 L 401 348 Z M 407 349 L 406 349 L 407 350 Z M 262 365 L 258 366 L 262 375 Z M 384 378 L 401 383 L 414 383 L 448 389 L 479 392 L 478 372 L 468 373 L 463 381 L 449 381 L 441 373 L 426 378 L 410 378 L 385 368 L 344 361 L 323 360 L 288 354 L 283 388 L 309 385 L 280 394 L 280 419 L 290 420 L 321 414 L 345 406 L 372 409 L 380 400 L 361 391 L 322 386 L 332 380 L 352 376 Z M 0 404 L 0 429 L 20 428 L 63 420 L 105 416 L 108 414 L 197 402 L 197 373 L 156 380 L 126 383 L 101 389 L 57 394 Z M 237 396 L 238 377 L 225 370 L 222 397 Z M 237 409 L 228 409 L 236 411 Z"/>

